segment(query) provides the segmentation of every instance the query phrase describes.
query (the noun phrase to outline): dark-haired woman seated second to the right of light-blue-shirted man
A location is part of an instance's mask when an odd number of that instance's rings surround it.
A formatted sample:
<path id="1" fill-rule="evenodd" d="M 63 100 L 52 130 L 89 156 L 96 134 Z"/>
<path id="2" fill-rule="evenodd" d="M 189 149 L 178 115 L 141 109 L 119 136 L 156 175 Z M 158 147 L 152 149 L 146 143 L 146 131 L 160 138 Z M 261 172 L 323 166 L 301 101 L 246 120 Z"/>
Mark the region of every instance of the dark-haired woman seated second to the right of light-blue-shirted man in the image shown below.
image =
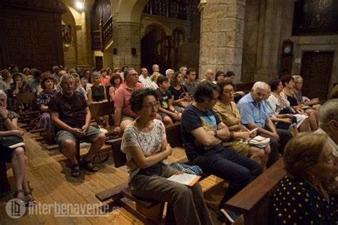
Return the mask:
<path id="1" fill-rule="evenodd" d="M 288 100 L 292 108 L 295 108 L 298 113 L 302 114 L 305 112 L 307 115 L 309 115 L 309 124 L 311 130 L 317 130 L 318 113 L 316 110 L 309 108 L 307 105 L 298 102 L 295 93 L 292 91 L 295 88 L 295 80 L 290 75 L 284 75 L 282 76 L 281 81 L 284 87 L 282 93 L 280 93 L 282 98 Z"/>

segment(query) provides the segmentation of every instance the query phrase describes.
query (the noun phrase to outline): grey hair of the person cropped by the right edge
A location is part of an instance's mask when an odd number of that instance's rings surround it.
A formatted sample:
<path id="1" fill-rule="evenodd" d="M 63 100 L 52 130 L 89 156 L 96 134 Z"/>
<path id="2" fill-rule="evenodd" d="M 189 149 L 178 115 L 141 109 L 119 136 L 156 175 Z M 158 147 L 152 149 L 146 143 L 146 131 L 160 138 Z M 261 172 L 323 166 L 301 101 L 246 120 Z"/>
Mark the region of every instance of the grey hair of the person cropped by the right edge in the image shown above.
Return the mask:
<path id="1" fill-rule="evenodd" d="M 324 103 L 319 109 L 319 127 L 327 130 L 330 120 L 338 120 L 338 99 L 331 99 Z"/>

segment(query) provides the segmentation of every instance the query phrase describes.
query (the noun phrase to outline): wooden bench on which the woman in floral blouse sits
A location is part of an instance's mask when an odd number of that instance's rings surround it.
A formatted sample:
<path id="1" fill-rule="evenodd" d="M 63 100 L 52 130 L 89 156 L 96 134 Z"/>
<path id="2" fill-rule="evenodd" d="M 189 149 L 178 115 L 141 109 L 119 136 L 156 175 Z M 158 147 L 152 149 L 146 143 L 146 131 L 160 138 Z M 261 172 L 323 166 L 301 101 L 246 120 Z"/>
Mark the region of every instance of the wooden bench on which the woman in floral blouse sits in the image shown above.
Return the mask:
<path id="1" fill-rule="evenodd" d="M 169 125 L 165 127 L 167 140 L 171 147 L 180 147 L 183 145 L 183 141 L 180 135 L 180 123 Z M 106 145 L 111 145 L 113 150 L 113 159 L 115 167 L 122 167 L 126 164 L 126 155 L 121 152 L 122 137 L 114 138 L 113 140 L 107 140 Z M 101 202 L 105 202 L 108 199 L 113 199 L 114 204 L 122 206 L 130 214 L 133 214 L 136 218 L 140 219 L 145 224 L 159 224 L 162 220 L 164 202 L 149 201 L 147 199 L 140 199 L 133 196 L 128 187 L 128 183 L 124 183 L 107 189 L 104 192 L 96 194 Z M 135 204 L 133 204 L 135 202 Z"/>

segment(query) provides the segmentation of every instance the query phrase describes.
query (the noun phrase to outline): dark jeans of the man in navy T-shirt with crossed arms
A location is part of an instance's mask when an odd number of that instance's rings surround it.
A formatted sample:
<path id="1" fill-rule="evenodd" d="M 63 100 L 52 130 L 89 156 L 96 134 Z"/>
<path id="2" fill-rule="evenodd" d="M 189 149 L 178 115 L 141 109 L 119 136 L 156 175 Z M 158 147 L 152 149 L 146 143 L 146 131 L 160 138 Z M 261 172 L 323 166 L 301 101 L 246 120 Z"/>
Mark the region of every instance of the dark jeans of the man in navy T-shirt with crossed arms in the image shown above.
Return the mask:
<path id="1" fill-rule="evenodd" d="M 218 206 L 219 209 L 222 209 L 227 200 L 262 173 L 260 164 L 222 145 L 212 147 L 208 152 L 196 156 L 193 164 L 198 165 L 205 173 L 230 182 Z"/>

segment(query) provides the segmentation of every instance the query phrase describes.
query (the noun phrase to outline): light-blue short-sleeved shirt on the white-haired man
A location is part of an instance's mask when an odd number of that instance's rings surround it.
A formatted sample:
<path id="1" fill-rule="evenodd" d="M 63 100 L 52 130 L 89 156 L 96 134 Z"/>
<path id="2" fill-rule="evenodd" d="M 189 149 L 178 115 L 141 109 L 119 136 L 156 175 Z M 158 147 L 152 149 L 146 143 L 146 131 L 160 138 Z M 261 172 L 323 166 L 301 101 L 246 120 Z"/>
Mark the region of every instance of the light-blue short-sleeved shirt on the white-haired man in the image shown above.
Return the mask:
<path id="1" fill-rule="evenodd" d="M 265 127 L 265 122 L 269 117 L 267 109 L 263 103 L 259 103 L 257 106 L 252 99 L 251 93 L 241 98 L 237 103 L 237 107 L 240 110 L 240 122 L 242 124 L 255 123 L 262 128 Z"/>

